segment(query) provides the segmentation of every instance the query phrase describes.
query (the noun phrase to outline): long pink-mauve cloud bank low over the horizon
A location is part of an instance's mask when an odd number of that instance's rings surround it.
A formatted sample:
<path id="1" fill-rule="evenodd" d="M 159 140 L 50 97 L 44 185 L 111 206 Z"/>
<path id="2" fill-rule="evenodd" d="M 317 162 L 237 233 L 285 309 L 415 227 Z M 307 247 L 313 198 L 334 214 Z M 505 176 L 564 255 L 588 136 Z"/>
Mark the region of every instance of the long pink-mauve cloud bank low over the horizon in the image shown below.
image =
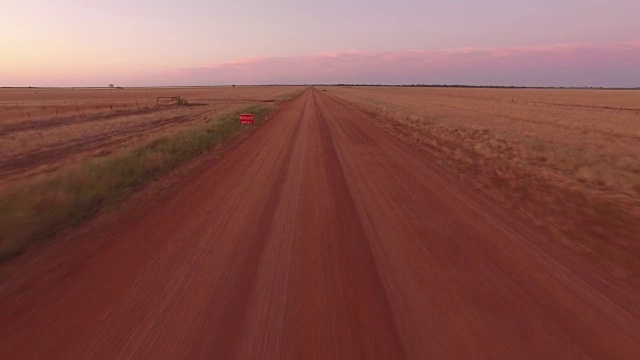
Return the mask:
<path id="1" fill-rule="evenodd" d="M 151 80 L 151 79 L 148 79 Z M 640 86 L 640 41 L 252 57 L 158 77 L 168 84 Z"/>

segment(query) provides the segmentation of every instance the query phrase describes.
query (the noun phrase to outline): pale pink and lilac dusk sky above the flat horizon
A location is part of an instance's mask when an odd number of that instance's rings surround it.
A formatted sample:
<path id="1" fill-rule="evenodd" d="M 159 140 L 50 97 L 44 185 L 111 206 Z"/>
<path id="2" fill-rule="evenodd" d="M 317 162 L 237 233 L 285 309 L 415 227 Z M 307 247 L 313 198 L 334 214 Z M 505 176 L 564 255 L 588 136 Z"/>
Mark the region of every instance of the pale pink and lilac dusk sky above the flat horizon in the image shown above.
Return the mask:
<path id="1" fill-rule="evenodd" d="M 640 87 L 638 0 L 2 0 L 0 86 Z"/>

